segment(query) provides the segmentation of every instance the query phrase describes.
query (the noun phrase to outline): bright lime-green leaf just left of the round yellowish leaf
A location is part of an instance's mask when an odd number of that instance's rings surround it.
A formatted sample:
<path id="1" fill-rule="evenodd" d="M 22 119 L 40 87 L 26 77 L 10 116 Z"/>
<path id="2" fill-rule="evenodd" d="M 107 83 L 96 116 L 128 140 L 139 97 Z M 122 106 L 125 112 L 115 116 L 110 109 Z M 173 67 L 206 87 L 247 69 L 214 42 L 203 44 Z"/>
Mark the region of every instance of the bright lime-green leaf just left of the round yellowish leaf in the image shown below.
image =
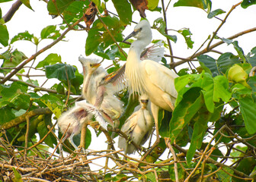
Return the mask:
<path id="1" fill-rule="evenodd" d="M 232 93 L 229 92 L 229 80 L 222 75 L 218 75 L 213 78 L 213 82 L 213 102 L 219 102 L 219 99 L 222 99 L 224 102 L 229 102 L 232 96 Z"/>

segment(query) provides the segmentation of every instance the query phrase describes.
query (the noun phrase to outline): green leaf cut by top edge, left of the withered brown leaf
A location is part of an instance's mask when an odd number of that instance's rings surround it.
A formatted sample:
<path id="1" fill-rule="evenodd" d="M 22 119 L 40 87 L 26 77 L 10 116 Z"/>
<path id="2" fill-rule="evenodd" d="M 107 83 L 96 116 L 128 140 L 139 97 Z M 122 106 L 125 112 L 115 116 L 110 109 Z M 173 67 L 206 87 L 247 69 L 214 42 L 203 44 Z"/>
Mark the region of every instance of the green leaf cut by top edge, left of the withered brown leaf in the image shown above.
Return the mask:
<path id="1" fill-rule="evenodd" d="M 68 8 L 72 2 L 75 2 L 75 0 L 50 0 L 47 3 L 47 10 L 51 15 L 58 15 Z"/>

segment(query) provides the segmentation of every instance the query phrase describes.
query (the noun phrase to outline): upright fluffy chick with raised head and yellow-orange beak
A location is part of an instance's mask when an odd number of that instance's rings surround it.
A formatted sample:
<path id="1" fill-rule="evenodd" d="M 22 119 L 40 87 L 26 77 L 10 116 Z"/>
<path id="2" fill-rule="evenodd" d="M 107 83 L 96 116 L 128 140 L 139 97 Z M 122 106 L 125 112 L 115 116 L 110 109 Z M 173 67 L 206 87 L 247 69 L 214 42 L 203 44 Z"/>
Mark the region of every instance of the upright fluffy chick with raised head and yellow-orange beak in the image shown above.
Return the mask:
<path id="1" fill-rule="evenodd" d="M 80 56 L 78 60 L 82 63 L 84 73 L 82 96 L 89 103 L 103 110 L 112 120 L 117 120 L 123 113 L 123 102 L 115 96 L 118 86 L 108 83 L 100 85 L 107 76 L 107 71 L 100 67 L 101 64 L 97 59 Z M 102 100 L 98 101 L 98 99 Z"/>

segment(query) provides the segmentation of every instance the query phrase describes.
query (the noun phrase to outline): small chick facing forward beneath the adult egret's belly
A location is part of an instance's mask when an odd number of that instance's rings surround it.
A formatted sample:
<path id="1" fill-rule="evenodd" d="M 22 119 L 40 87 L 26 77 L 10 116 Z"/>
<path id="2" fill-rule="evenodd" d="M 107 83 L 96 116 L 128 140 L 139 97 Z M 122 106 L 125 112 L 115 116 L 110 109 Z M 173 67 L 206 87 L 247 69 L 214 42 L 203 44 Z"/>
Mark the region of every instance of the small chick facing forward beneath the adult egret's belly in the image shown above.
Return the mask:
<path id="1" fill-rule="evenodd" d="M 123 127 L 121 128 L 121 131 L 123 131 L 123 133 L 130 137 L 130 139 L 139 146 L 142 146 L 146 143 L 146 140 L 149 139 L 154 125 L 152 116 L 147 109 L 148 102 L 148 96 L 145 94 L 140 96 L 139 104 L 141 108 L 139 108 L 138 111 L 134 111 L 133 115 L 130 115 L 130 117 L 126 119 Z M 119 137 L 118 147 L 128 154 L 134 153 L 136 149 L 132 143 L 129 143 L 129 141 L 126 141 L 123 137 Z"/>

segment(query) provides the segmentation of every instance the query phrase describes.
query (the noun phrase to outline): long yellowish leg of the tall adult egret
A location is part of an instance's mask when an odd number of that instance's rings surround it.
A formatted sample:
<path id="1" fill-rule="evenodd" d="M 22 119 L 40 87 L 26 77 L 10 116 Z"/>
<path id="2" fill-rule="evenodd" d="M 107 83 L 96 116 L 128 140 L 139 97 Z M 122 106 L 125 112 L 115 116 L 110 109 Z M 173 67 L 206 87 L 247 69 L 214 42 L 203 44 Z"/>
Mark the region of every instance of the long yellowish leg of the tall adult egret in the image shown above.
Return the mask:
<path id="1" fill-rule="evenodd" d="M 149 155 L 150 152 L 152 152 L 153 149 L 155 149 L 156 146 L 158 146 L 158 143 L 160 142 L 160 138 L 159 138 L 159 129 L 158 129 L 158 111 L 159 108 L 157 105 L 151 103 L 151 111 L 152 111 L 152 115 L 153 118 L 155 120 L 155 133 L 156 133 L 156 140 L 155 143 L 151 146 L 151 148 L 148 150 L 148 152 L 146 152 L 145 155 L 143 155 L 141 160 L 144 160 L 144 158 L 146 158 L 147 155 Z"/>

